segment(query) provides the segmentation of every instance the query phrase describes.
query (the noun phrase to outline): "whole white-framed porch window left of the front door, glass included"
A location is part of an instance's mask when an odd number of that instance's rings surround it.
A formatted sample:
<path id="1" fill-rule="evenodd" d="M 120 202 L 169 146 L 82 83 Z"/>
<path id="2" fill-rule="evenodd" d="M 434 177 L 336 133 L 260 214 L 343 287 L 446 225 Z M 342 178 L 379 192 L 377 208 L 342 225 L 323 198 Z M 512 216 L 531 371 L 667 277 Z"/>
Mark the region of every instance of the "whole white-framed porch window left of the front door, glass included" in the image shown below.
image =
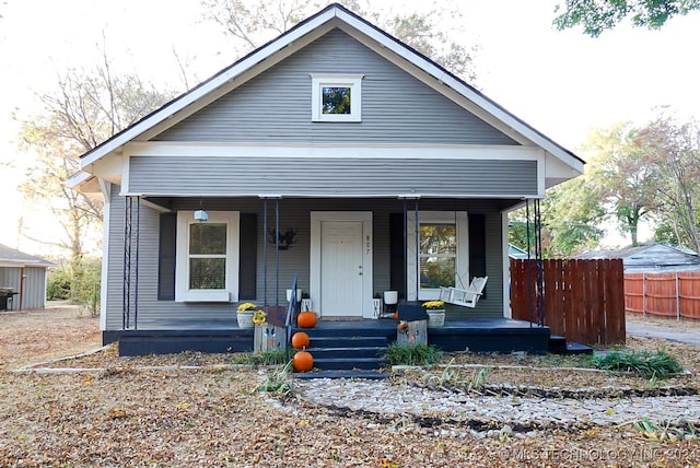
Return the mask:
<path id="1" fill-rule="evenodd" d="M 177 213 L 176 302 L 230 302 L 238 295 L 237 211 L 210 211 L 208 222 Z"/>

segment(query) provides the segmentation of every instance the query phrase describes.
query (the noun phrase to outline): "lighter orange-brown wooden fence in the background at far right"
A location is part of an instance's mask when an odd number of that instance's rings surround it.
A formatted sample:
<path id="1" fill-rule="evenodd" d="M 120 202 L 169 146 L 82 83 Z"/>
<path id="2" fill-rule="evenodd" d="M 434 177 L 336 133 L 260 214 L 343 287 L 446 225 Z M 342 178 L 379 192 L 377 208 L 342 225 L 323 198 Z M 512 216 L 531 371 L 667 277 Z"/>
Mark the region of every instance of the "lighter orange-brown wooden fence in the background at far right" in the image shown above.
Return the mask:
<path id="1" fill-rule="evenodd" d="M 700 319 L 700 271 L 625 273 L 625 309 L 632 314 Z"/>

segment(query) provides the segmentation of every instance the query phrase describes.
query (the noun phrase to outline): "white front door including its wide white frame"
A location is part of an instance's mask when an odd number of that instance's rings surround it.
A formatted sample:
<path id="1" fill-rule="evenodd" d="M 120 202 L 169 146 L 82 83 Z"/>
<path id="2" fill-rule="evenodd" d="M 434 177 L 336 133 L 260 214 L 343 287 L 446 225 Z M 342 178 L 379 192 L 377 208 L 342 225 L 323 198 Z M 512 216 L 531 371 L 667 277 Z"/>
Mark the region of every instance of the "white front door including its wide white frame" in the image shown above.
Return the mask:
<path id="1" fill-rule="evenodd" d="M 312 212 L 311 299 L 320 317 L 372 317 L 372 213 Z"/>

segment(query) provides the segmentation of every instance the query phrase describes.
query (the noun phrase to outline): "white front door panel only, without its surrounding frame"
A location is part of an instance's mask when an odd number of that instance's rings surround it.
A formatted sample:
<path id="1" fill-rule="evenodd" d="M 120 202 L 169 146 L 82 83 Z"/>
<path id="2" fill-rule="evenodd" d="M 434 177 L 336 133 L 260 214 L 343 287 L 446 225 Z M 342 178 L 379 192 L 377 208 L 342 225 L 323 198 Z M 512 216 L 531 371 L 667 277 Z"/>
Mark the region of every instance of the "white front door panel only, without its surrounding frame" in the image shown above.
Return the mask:
<path id="1" fill-rule="evenodd" d="M 320 225 L 320 309 L 325 317 L 362 316 L 362 222 Z"/>

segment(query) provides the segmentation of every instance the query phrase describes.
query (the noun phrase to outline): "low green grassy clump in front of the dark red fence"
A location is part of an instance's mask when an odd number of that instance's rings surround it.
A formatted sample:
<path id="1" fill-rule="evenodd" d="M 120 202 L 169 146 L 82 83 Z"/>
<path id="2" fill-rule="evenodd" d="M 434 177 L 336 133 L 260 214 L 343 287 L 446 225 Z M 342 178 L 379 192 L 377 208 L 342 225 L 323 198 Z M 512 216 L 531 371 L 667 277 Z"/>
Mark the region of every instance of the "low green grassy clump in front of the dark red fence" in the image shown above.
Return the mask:
<path id="1" fill-rule="evenodd" d="M 682 372 L 682 365 L 666 350 L 654 352 L 612 351 L 595 358 L 597 368 L 607 371 L 633 372 L 645 378 L 666 378 Z"/>

